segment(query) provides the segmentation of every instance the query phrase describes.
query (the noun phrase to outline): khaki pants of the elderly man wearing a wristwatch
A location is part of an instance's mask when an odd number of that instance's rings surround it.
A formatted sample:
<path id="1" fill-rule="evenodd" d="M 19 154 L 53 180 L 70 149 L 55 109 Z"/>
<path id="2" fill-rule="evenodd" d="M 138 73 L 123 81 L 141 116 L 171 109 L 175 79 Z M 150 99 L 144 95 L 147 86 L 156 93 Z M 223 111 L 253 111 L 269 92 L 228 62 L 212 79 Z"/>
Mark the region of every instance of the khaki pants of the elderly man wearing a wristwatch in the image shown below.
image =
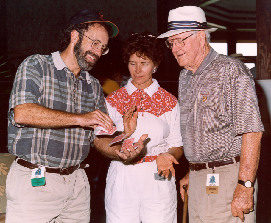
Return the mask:
<path id="1" fill-rule="evenodd" d="M 240 162 L 222 167 L 215 167 L 219 174 L 218 194 L 206 194 L 207 174 L 212 168 L 200 171 L 190 171 L 188 190 L 189 222 L 200 223 L 241 223 L 238 217 L 231 214 L 231 201 L 237 186 Z M 244 223 L 256 222 L 257 180 L 254 185 L 254 209 L 245 214 Z"/>

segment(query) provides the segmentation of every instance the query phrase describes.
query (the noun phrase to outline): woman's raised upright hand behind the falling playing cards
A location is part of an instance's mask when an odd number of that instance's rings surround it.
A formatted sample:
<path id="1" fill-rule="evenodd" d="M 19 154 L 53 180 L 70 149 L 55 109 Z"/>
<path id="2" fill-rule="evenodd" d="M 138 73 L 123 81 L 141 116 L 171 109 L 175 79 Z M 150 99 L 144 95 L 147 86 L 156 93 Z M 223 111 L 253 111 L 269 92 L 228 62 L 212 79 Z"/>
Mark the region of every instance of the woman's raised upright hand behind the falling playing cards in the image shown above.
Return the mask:
<path id="1" fill-rule="evenodd" d="M 137 117 L 138 117 L 138 112 L 136 111 L 136 105 L 133 105 L 133 107 L 131 107 L 129 111 L 124 114 L 123 134 L 128 133 L 128 135 L 125 138 L 129 138 L 133 134 L 133 132 L 136 130 Z"/>

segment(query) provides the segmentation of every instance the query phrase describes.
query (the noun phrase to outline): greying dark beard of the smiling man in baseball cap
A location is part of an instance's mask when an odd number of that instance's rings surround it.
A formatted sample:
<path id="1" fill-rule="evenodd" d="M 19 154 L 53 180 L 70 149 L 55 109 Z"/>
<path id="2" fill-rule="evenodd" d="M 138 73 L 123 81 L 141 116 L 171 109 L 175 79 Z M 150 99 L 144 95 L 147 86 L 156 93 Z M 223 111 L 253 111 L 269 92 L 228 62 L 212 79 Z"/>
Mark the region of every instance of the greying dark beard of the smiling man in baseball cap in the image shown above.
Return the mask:
<path id="1" fill-rule="evenodd" d="M 74 54 L 77 59 L 77 63 L 79 65 L 79 67 L 82 70 L 86 70 L 86 71 L 91 70 L 92 67 L 95 65 L 95 63 L 97 62 L 97 60 L 99 59 L 99 56 L 97 56 L 96 54 L 94 54 L 91 51 L 86 51 L 84 53 L 84 51 L 82 49 L 82 40 L 80 41 L 80 39 L 77 41 L 77 43 L 74 46 Z M 87 59 L 87 54 L 94 57 L 95 61 L 94 62 L 89 61 Z"/>

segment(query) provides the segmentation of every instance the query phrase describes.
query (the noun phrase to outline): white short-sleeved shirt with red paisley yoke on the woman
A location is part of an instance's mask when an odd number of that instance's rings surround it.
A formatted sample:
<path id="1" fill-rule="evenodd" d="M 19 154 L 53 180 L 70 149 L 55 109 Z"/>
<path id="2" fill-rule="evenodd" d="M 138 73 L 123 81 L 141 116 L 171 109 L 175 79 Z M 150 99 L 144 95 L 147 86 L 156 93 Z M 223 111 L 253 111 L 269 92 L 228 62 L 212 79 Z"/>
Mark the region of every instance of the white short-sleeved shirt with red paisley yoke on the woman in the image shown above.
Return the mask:
<path id="1" fill-rule="evenodd" d="M 118 131 L 123 131 L 122 116 L 133 104 L 138 111 L 137 128 L 131 135 L 138 142 L 147 133 L 145 156 L 167 152 L 169 148 L 183 146 L 180 133 L 180 108 L 177 98 L 161 88 L 155 79 L 145 88 L 138 89 L 130 79 L 125 87 L 106 97 L 108 114 Z"/>

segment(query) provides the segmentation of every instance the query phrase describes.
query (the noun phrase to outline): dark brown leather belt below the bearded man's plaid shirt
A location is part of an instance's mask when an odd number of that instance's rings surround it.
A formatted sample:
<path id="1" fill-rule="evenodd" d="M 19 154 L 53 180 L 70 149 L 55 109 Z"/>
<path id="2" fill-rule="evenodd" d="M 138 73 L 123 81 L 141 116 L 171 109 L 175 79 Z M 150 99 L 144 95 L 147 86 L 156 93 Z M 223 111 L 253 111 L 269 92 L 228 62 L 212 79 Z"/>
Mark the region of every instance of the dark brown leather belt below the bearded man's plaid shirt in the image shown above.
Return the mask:
<path id="1" fill-rule="evenodd" d="M 16 159 L 18 156 L 16 157 Z M 38 167 L 41 167 L 41 165 L 38 164 L 32 164 L 29 161 L 26 161 L 24 159 L 18 159 L 17 163 L 20 164 L 23 167 L 27 167 L 29 169 L 35 169 Z M 50 167 L 45 167 L 45 172 L 46 173 L 57 173 L 60 175 L 69 175 L 72 174 L 75 170 L 77 169 L 83 169 L 87 166 L 87 164 L 78 164 L 73 167 L 60 167 L 60 168 L 50 168 Z"/>

